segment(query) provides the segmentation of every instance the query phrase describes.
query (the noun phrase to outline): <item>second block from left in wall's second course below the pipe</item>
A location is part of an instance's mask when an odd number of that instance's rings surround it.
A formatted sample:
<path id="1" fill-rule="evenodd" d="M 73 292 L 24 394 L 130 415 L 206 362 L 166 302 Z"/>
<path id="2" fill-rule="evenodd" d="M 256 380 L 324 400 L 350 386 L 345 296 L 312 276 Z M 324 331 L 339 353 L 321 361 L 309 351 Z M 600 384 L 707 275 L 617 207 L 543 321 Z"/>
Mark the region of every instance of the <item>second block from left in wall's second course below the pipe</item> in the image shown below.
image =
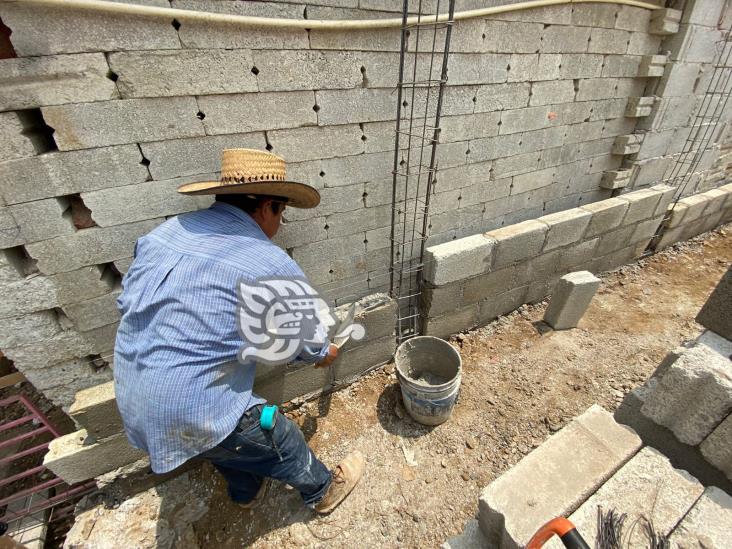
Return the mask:
<path id="1" fill-rule="evenodd" d="M 257 91 L 248 50 L 167 50 L 109 54 L 124 98 Z"/>

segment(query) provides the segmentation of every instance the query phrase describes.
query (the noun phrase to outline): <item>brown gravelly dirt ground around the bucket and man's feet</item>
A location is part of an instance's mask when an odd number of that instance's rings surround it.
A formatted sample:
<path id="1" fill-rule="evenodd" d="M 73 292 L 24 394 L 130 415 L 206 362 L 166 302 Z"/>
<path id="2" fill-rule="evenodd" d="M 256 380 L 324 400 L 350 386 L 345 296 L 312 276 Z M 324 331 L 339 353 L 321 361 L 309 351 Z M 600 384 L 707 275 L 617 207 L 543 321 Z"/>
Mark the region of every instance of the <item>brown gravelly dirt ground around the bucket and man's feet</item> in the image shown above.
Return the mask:
<path id="1" fill-rule="evenodd" d="M 196 482 L 214 493 L 194 525 L 200 546 L 439 546 L 475 516 L 482 487 L 591 404 L 614 410 L 668 350 L 697 336 L 694 316 L 730 262 L 727 225 L 605 275 L 575 330 L 542 330 L 539 304 L 459 334 L 460 399 L 436 428 L 403 417 L 393 366 L 336 393 L 327 417 L 317 402 L 301 406 L 296 419 L 326 465 L 354 449 L 366 454 L 360 485 L 326 518 L 281 484 L 246 511 L 204 468 Z"/>

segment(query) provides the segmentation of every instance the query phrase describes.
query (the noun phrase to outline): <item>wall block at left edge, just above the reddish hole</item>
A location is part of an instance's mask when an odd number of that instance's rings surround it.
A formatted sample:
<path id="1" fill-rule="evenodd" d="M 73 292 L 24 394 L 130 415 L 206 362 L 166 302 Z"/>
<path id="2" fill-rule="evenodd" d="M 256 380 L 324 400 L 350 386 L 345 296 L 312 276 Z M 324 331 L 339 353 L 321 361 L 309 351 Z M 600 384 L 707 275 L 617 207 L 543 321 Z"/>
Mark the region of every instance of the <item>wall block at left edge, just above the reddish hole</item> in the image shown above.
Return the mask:
<path id="1" fill-rule="evenodd" d="M 52 152 L 0 163 L 0 194 L 6 204 L 141 183 L 148 171 L 137 145 Z M 43 181 L 31 185 L 29 181 Z"/>

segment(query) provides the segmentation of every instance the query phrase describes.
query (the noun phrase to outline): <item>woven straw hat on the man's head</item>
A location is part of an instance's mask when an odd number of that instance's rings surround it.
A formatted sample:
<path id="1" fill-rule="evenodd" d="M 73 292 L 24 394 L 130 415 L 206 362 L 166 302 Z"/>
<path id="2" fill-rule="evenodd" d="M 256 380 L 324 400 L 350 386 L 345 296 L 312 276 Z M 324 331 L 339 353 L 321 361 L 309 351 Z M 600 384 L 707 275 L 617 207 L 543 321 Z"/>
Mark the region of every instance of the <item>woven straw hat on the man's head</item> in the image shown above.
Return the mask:
<path id="1" fill-rule="evenodd" d="M 186 183 L 183 194 L 268 194 L 287 198 L 295 208 L 314 208 L 320 193 L 310 185 L 287 181 L 285 161 L 277 155 L 255 149 L 224 149 L 218 181 Z"/>

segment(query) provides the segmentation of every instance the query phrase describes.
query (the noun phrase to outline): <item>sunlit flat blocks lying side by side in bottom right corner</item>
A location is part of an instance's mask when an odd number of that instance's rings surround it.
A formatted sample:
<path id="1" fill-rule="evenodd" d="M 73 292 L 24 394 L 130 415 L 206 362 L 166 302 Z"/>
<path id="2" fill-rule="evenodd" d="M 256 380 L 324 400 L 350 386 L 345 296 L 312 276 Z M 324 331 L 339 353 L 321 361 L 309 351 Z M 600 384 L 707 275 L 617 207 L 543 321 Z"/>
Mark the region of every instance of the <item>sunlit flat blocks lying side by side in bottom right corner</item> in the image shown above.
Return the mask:
<path id="1" fill-rule="evenodd" d="M 623 543 L 630 547 L 648 545 L 644 520 L 659 536 L 670 536 L 674 547 L 728 547 L 732 497 L 705 489 L 663 454 L 642 446 L 630 428 L 599 406 L 590 407 L 489 484 L 477 519 L 443 547 L 518 549 L 560 516 L 594 547 L 598 508 L 627 513 Z M 563 544 L 554 537 L 545 547 Z"/>

